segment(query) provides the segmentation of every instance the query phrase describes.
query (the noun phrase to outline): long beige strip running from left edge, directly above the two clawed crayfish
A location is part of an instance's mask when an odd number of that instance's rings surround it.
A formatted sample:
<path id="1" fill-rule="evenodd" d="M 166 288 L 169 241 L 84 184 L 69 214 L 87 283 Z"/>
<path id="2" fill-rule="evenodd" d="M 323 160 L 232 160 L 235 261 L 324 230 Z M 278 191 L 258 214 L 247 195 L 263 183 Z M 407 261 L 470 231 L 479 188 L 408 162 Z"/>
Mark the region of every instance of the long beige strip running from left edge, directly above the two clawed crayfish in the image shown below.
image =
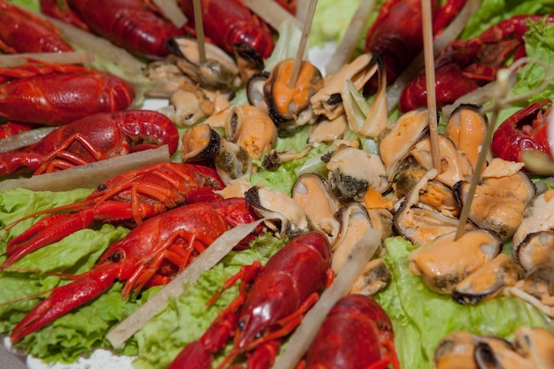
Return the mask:
<path id="1" fill-rule="evenodd" d="M 27 188 L 33 191 L 68 191 L 75 188 L 96 188 L 103 181 L 120 173 L 139 169 L 144 165 L 167 161 L 169 161 L 169 150 L 167 145 L 164 145 L 158 149 L 134 152 L 54 173 L 40 174 L 31 178 L 5 180 L 0 183 L 0 191 L 12 188 Z"/>

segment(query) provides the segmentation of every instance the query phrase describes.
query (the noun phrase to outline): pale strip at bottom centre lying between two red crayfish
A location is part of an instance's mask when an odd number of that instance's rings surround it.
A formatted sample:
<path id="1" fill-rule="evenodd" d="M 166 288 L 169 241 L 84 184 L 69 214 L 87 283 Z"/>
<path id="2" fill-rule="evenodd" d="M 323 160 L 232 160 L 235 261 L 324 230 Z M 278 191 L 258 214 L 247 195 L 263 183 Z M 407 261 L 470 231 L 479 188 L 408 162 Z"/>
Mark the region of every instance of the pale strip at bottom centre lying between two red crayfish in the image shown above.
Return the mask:
<path id="1" fill-rule="evenodd" d="M 273 369 L 289 369 L 304 356 L 306 350 L 318 333 L 319 327 L 327 317 L 327 313 L 333 305 L 346 296 L 358 275 L 362 273 L 365 265 L 373 257 L 373 254 L 381 244 L 381 231 L 368 229 L 362 238 L 356 243 L 350 253 L 350 257 L 342 265 L 337 273 L 335 281 L 321 294 L 319 301 L 306 313 L 302 323 L 296 327 L 295 333 L 290 336 L 285 351 L 277 357 Z"/>

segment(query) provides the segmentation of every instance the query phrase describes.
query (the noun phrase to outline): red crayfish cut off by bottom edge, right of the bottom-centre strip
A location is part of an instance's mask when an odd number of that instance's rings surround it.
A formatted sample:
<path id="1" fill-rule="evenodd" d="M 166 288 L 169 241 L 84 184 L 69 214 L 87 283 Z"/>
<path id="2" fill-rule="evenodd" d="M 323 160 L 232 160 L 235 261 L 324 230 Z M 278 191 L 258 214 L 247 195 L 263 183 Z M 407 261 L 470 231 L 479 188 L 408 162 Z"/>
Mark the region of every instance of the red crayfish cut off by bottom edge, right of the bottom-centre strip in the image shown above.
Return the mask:
<path id="1" fill-rule="evenodd" d="M 297 369 L 400 369 L 392 323 L 370 296 L 347 295 L 329 311 Z"/>

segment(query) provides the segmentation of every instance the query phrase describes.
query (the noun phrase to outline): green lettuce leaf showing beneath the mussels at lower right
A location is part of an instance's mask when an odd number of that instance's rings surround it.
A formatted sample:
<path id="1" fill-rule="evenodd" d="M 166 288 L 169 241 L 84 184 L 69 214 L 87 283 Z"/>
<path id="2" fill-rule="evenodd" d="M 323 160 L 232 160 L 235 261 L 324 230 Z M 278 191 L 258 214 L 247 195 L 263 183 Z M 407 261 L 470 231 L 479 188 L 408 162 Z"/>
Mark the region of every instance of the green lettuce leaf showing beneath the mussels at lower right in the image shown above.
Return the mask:
<path id="1" fill-rule="evenodd" d="M 431 369 L 436 344 L 450 332 L 509 338 L 520 326 L 553 328 L 551 319 L 515 297 L 501 296 L 470 306 L 435 294 L 409 270 L 407 257 L 414 249 L 412 243 L 394 237 L 385 240 L 385 246 L 383 259 L 393 279 L 375 298 L 392 320 L 402 367 Z"/>

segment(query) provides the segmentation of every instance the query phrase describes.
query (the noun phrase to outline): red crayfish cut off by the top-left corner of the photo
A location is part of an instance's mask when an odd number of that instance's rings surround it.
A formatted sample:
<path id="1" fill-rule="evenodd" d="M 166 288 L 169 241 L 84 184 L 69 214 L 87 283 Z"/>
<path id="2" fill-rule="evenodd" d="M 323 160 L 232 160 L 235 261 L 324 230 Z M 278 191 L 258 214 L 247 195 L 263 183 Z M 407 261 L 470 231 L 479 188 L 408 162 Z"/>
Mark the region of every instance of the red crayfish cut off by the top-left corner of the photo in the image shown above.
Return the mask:
<path id="1" fill-rule="evenodd" d="M 50 21 L 0 0 L 0 50 L 18 54 L 73 51 L 73 48 Z"/>

